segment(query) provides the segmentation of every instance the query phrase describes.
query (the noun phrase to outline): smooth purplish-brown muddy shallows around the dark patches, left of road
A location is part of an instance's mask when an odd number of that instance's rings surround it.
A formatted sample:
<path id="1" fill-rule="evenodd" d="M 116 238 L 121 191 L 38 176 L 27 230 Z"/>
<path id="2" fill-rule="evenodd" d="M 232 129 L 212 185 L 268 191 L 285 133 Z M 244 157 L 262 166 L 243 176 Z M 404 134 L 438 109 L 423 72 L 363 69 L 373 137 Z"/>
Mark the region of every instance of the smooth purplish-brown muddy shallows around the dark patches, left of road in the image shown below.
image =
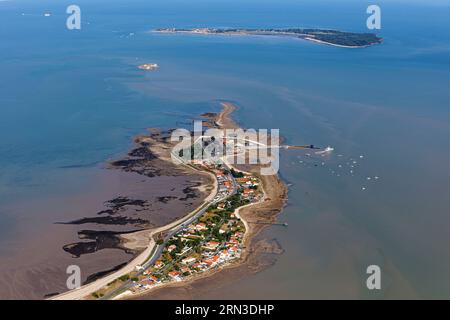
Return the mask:
<path id="1" fill-rule="evenodd" d="M 42 299 L 65 291 L 69 265 L 80 266 L 83 282 L 95 273 L 113 269 L 132 259 L 133 254 L 111 245 L 111 241 L 99 242 L 99 232 L 127 232 L 166 224 L 198 206 L 204 196 L 195 189 L 201 177 L 145 177 L 120 170 L 91 171 L 89 183 L 76 194 L 33 199 L 2 208 L 15 217 L 16 235 L 4 240 L 1 246 L 0 297 Z M 190 197 L 186 197 L 187 188 Z M 120 213 L 111 216 L 98 214 L 111 209 L 104 201 L 119 197 L 139 199 L 146 205 L 124 206 Z M 112 225 L 108 221 L 105 224 L 105 220 L 94 220 L 98 223 L 89 220 L 100 216 L 148 222 Z M 59 224 L 73 221 L 78 224 Z M 92 242 L 80 239 L 79 232 L 86 230 L 94 232 L 94 250 L 76 254 L 64 251 L 68 244 Z"/>

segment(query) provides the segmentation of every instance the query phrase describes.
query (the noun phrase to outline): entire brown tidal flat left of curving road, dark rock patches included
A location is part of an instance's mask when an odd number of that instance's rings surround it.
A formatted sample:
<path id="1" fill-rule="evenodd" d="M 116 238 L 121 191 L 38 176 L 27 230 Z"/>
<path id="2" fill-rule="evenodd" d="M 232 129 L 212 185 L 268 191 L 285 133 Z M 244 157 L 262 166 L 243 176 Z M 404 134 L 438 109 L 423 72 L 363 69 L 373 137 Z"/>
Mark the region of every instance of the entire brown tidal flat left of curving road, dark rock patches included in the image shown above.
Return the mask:
<path id="1" fill-rule="evenodd" d="M 170 162 L 169 134 L 151 130 L 137 137 L 129 153 L 103 168 L 62 169 L 89 171 L 83 171 L 89 181 L 79 193 L 7 208 L 27 223 L 17 226 L 14 241 L 5 243 L 9 250 L 0 252 L 0 296 L 42 299 L 64 292 L 69 265 L 81 268 L 82 282 L 93 281 L 143 249 L 145 237 L 127 240 L 139 230 L 165 225 L 198 207 L 212 180 Z"/>

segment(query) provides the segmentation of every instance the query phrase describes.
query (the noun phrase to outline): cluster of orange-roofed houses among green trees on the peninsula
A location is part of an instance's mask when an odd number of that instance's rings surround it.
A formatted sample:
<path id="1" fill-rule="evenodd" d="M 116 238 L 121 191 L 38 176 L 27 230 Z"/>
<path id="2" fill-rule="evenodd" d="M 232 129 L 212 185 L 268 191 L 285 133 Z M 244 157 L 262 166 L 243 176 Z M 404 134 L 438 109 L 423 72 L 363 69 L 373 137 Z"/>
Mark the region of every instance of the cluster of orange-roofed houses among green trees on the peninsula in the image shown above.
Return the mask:
<path id="1" fill-rule="evenodd" d="M 231 195 L 235 187 L 232 175 L 220 166 L 202 165 L 208 166 L 216 175 L 219 183 L 218 197 L 226 198 Z M 255 202 L 262 196 L 258 190 L 257 178 L 240 174 L 239 177 L 235 176 L 234 181 L 238 191 L 236 196 L 240 199 Z M 160 260 L 138 277 L 131 291 L 147 290 L 170 281 L 182 281 L 185 277 L 239 258 L 245 227 L 234 213 L 236 206 L 230 208 L 230 203 L 228 200 L 217 203 L 211 212 L 206 212 L 202 218 L 174 235 L 168 241 Z M 220 219 L 213 220 L 211 217 Z"/>

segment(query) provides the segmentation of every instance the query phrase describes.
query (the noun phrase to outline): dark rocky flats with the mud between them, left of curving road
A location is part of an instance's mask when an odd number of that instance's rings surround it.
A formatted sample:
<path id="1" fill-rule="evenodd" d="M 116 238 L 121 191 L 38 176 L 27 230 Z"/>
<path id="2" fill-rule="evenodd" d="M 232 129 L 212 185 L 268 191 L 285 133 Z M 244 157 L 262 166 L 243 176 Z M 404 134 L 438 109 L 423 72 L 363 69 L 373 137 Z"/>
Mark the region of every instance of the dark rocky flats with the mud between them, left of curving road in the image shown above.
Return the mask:
<path id="1" fill-rule="evenodd" d="M 142 179 L 145 182 L 142 189 L 134 190 L 132 195 L 125 189 L 121 195 L 104 201 L 104 209 L 92 216 L 60 223 L 90 227 L 78 231 L 80 241 L 65 244 L 64 251 L 74 258 L 104 249 L 135 255 L 141 248 L 135 250 L 130 249 L 130 243 L 124 245 L 126 234 L 167 224 L 200 205 L 207 193 L 199 187 L 212 181 L 206 174 L 191 172 L 171 162 L 169 137 L 170 131 L 151 129 L 148 136 L 135 138 L 135 147 L 126 157 L 108 164 L 108 170 Z M 151 186 L 147 188 L 147 184 Z M 155 186 L 159 192 L 155 192 Z M 163 214 L 163 207 L 172 209 L 171 214 Z M 108 270 L 96 274 L 105 275 Z M 89 275 L 88 279 L 93 277 Z"/>

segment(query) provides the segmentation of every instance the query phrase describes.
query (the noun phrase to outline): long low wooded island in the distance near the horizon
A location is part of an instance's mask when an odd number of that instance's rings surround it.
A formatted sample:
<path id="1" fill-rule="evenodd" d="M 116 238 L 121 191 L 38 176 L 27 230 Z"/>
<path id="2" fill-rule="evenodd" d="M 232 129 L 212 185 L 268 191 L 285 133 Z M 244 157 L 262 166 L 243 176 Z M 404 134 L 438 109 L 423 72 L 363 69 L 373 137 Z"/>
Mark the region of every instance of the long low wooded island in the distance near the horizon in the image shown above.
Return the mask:
<path id="1" fill-rule="evenodd" d="M 191 33 L 207 35 L 249 35 L 249 36 L 285 36 L 314 41 L 327 45 L 344 48 L 365 48 L 382 43 L 383 39 L 374 33 L 355 33 L 338 30 L 322 29 L 216 29 L 216 28 L 195 28 L 177 29 L 160 28 L 153 32 L 162 33 Z"/>

